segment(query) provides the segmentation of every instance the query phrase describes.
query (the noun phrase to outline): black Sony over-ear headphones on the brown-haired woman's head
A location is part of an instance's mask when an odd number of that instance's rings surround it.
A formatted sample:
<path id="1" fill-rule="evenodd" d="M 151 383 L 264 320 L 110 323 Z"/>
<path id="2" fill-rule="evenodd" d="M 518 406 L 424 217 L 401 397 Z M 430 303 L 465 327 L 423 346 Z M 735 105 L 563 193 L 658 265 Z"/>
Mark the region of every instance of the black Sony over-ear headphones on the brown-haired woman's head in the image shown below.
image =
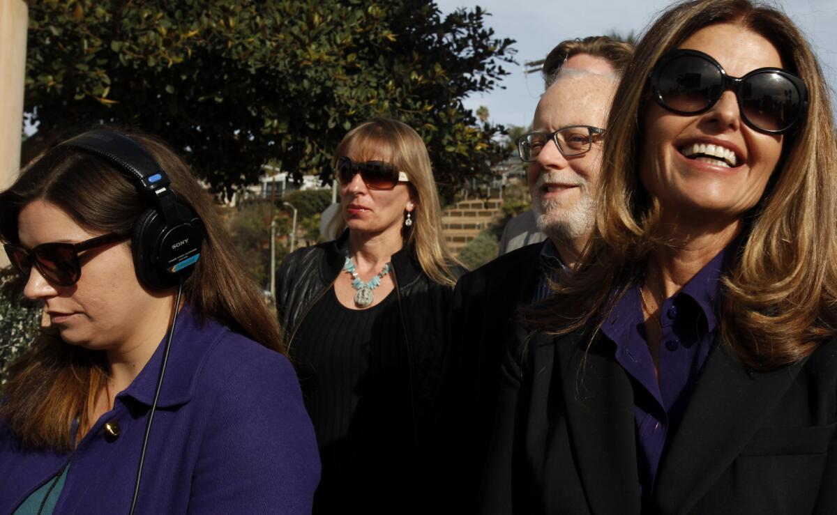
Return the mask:
<path id="1" fill-rule="evenodd" d="M 91 130 L 61 145 L 86 150 L 115 165 L 146 201 L 148 208 L 136 219 L 131 236 L 141 283 L 171 288 L 192 273 L 201 257 L 203 222 L 177 201 L 166 171 L 146 149 L 113 130 Z"/>

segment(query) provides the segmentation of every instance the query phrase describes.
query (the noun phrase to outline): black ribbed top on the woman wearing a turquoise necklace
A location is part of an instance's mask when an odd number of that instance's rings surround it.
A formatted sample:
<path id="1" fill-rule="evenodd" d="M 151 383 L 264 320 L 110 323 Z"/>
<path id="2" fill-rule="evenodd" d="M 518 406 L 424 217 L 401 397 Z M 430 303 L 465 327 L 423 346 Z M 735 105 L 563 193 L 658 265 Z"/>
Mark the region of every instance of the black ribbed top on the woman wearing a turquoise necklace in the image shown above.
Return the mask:
<path id="1" fill-rule="evenodd" d="M 368 507 L 370 485 L 394 479 L 393 449 L 413 446 L 409 438 L 398 441 L 409 436 L 411 414 L 396 296 L 393 290 L 382 303 L 357 310 L 343 306 L 331 288 L 296 334 L 293 358 L 322 461 L 314 512 Z"/>

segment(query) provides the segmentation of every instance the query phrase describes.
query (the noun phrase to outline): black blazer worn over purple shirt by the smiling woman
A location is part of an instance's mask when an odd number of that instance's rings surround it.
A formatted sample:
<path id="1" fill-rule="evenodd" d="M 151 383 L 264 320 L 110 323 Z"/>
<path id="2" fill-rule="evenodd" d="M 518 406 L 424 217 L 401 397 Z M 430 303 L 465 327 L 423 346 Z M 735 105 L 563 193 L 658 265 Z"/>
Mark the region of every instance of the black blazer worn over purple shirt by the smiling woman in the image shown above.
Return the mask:
<path id="1" fill-rule="evenodd" d="M 481 512 L 837 513 L 837 342 L 753 372 L 716 341 L 640 507 L 629 375 L 612 342 L 588 341 L 517 334 Z"/>

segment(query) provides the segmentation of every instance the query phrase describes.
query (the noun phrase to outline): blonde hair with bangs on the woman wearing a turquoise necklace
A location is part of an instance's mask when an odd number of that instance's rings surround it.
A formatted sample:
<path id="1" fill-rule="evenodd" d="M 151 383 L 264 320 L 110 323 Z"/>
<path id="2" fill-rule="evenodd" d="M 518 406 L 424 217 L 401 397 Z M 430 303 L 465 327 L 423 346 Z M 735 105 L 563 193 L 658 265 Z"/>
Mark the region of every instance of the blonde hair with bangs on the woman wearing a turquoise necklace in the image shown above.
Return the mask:
<path id="1" fill-rule="evenodd" d="M 444 243 L 442 208 L 433 177 L 433 166 L 419 133 L 398 120 L 372 118 L 343 136 L 335 150 L 335 160 L 340 156 L 348 156 L 350 149 L 359 149 L 357 155 L 362 156 L 362 160 L 387 161 L 407 174 L 415 208 L 412 212 L 412 227 L 402 228 L 404 240 L 413 249 L 425 275 L 434 283 L 453 286 L 456 277 L 450 268 L 459 263 Z M 334 233 L 340 234 L 346 222 L 341 216 L 335 217 L 335 220 Z"/>

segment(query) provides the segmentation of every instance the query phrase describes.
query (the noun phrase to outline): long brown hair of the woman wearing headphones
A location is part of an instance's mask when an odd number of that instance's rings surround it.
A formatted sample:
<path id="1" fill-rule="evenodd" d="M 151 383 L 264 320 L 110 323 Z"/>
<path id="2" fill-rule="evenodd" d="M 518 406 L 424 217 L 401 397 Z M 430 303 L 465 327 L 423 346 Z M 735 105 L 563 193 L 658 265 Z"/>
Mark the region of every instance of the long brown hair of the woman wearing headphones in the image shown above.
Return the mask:
<path id="1" fill-rule="evenodd" d="M 279 324 L 241 268 L 212 197 L 162 141 L 129 135 L 167 171 L 178 199 L 206 227 L 201 259 L 183 285 L 193 314 L 216 320 L 284 354 Z M 147 207 L 136 187 L 109 162 L 66 146 L 47 151 L 0 193 L 4 241 L 18 241 L 18 212 L 36 200 L 55 204 L 82 227 L 123 235 L 131 235 L 134 222 Z M 103 351 L 64 344 L 57 333 L 44 330 L 28 352 L 9 366 L 0 416 L 25 446 L 70 449 L 90 429 L 87 414 L 107 375 Z M 70 434 L 74 421 L 78 421 L 75 440 Z"/>

